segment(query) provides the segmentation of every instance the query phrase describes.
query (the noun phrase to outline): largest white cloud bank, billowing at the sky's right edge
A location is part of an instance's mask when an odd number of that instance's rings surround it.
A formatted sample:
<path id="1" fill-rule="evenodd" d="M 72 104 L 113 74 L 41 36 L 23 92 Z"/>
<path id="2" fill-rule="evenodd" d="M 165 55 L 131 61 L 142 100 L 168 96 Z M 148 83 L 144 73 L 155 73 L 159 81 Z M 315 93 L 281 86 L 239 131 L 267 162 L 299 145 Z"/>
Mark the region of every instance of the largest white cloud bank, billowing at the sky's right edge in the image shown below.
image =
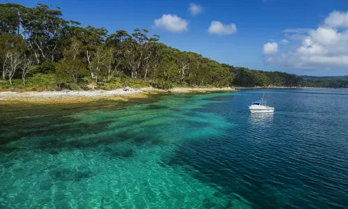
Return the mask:
<path id="1" fill-rule="evenodd" d="M 286 29 L 285 33 L 297 33 L 292 36 L 301 39 L 300 44 L 280 56 L 267 56 L 265 62 L 297 69 L 348 68 L 348 30 L 342 30 L 345 27 L 348 28 L 348 13 L 334 11 L 317 29 Z"/>

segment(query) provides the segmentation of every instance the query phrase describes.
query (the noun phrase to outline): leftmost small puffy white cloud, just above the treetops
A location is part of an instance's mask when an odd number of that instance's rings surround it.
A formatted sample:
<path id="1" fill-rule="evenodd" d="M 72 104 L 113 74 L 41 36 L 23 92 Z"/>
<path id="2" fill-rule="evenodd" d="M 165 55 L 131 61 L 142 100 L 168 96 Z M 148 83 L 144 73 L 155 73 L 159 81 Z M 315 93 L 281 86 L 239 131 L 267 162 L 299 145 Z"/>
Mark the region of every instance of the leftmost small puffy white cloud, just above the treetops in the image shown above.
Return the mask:
<path id="1" fill-rule="evenodd" d="M 164 29 L 173 33 L 187 31 L 187 25 L 189 22 L 177 17 L 177 15 L 162 15 L 161 18 L 154 21 L 154 28 Z"/>

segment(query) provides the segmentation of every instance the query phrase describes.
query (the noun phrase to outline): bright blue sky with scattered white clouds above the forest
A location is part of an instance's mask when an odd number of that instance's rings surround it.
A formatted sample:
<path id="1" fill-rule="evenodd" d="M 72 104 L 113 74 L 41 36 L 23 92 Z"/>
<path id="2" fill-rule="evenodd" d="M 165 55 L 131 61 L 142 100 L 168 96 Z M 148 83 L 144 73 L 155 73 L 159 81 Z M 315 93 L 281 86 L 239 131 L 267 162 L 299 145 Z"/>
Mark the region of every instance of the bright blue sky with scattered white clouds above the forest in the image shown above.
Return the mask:
<path id="1" fill-rule="evenodd" d="M 65 19 L 79 21 L 82 26 L 104 27 L 109 32 L 148 29 L 150 33 L 161 36 L 161 42 L 166 45 L 196 52 L 221 63 L 298 75 L 348 75 L 348 52 L 342 49 L 336 53 L 338 44 L 335 44 L 344 42 L 343 46 L 348 48 L 345 36 L 348 35 L 347 0 L 9 2 L 30 7 L 36 3 L 59 6 Z M 192 15 L 190 3 L 202 10 L 198 8 L 198 14 Z M 341 13 L 333 14 L 335 10 Z M 332 24 L 327 23 L 330 14 L 333 14 Z M 168 16 L 169 22 L 162 21 L 162 15 L 171 15 Z M 166 25 L 171 24 L 171 18 L 179 18 L 177 24 L 181 25 L 171 25 L 172 28 Z M 157 26 L 155 20 L 159 20 Z M 333 24 L 336 20 L 342 21 Z M 216 26 L 215 31 L 209 33 L 213 21 L 222 26 Z M 237 31 L 231 28 L 231 24 L 235 24 Z M 336 42 L 322 42 L 323 38 L 332 40 L 332 36 L 324 36 L 331 34 L 329 29 L 338 35 L 334 36 Z"/>

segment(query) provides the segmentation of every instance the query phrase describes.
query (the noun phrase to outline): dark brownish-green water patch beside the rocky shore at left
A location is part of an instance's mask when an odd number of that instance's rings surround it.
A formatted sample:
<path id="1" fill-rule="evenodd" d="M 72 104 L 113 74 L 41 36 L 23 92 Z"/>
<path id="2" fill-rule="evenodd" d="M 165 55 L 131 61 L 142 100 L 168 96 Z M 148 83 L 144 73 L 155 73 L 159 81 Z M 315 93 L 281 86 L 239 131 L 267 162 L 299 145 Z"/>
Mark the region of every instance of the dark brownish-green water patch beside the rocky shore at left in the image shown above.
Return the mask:
<path id="1" fill-rule="evenodd" d="M 151 105 L 152 102 L 158 102 L 161 95 L 150 95 L 149 98 L 132 99 L 125 101 L 95 101 L 85 104 L 29 104 L 19 102 L 15 104 L 1 104 L 0 113 L 3 123 L 0 126 L 0 152 L 11 153 L 17 150 L 25 150 L 23 146 L 7 146 L 15 141 L 28 139 L 32 141 L 35 149 L 49 150 L 50 153 L 59 153 L 61 149 L 86 148 L 97 146 L 97 144 L 111 144 L 115 141 L 126 140 L 125 133 L 116 134 L 113 137 L 102 137 L 100 140 L 91 140 L 88 143 L 82 141 L 66 141 L 66 139 L 79 139 L 81 136 L 98 134 L 108 130 L 108 125 L 115 121 L 113 116 L 106 121 L 97 123 L 80 123 L 79 119 L 70 117 L 71 114 L 77 114 L 83 111 L 107 111 L 122 109 L 134 104 L 150 103 L 150 109 L 166 108 L 159 105 Z M 143 120 L 131 121 L 120 125 L 127 127 L 136 123 L 142 123 Z M 15 130 L 15 131 L 14 131 Z M 127 136 L 127 138 L 131 138 Z M 145 139 L 141 136 L 132 139 L 134 144 L 143 144 Z M 45 141 L 45 142 L 43 142 Z M 159 141 L 154 142 L 159 144 Z"/>

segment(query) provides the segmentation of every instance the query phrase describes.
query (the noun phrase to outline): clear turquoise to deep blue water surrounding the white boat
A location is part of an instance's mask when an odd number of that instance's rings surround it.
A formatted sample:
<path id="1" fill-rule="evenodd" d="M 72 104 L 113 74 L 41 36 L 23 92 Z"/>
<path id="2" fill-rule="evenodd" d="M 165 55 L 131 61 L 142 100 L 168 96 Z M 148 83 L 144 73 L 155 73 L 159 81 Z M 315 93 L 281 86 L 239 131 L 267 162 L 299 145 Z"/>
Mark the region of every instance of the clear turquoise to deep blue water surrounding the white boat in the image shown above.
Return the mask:
<path id="1" fill-rule="evenodd" d="M 347 113 L 331 89 L 0 103 L 0 208 L 347 208 Z"/>

